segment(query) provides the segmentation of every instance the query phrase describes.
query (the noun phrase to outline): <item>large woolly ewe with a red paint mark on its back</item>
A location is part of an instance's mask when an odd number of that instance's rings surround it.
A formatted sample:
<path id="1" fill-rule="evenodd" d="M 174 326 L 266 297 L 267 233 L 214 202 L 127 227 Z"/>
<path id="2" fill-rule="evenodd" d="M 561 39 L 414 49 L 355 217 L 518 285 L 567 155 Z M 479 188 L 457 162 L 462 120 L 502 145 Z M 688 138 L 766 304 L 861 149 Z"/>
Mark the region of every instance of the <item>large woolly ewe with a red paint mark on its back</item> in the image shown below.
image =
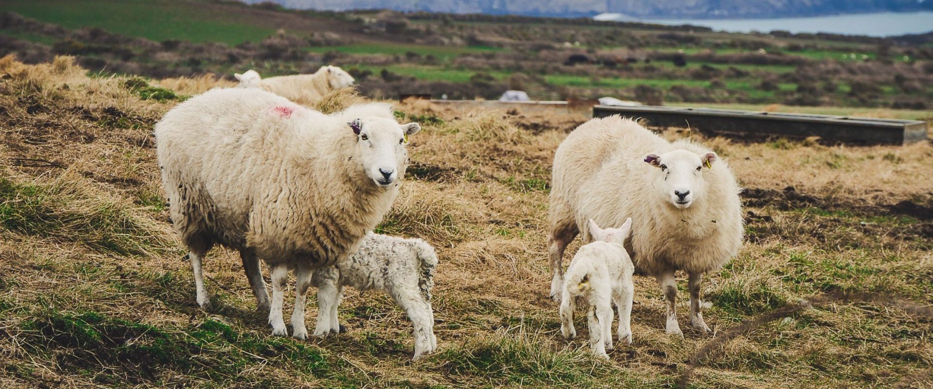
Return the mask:
<path id="1" fill-rule="evenodd" d="M 420 129 L 399 125 L 388 104 L 327 116 L 257 89 L 209 90 L 166 113 L 156 154 L 198 304 L 210 304 L 204 254 L 216 243 L 239 250 L 258 310 L 269 309 L 272 333 L 285 336 L 288 269 L 303 297 L 313 269 L 356 251 L 395 201 L 406 138 Z M 258 258 L 271 269 L 271 306 Z M 292 326 L 306 337 L 303 319 Z"/>

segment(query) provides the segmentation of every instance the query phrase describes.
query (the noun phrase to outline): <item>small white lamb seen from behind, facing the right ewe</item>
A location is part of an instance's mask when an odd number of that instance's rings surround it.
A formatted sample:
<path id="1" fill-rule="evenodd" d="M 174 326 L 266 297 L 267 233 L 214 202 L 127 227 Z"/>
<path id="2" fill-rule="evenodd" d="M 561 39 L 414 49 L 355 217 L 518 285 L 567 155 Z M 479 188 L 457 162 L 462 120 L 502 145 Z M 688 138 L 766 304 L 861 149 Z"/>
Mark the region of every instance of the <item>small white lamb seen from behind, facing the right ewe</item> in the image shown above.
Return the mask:
<path id="1" fill-rule="evenodd" d="M 613 302 L 619 310 L 619 340 L 632 344 L 634 265 L 624 245 L 631 232 L 631 218 L 619 229 L 600 229 L 591 219 L 593 242 L 580 247 L 570 262 L 561 292 L 561 334 L 566 339 L 577 336 L 576 299 L 586 297 L 590 305 L 590 348 L 593 355 L 606 359 L 606 350 L 612 350 Z"/>

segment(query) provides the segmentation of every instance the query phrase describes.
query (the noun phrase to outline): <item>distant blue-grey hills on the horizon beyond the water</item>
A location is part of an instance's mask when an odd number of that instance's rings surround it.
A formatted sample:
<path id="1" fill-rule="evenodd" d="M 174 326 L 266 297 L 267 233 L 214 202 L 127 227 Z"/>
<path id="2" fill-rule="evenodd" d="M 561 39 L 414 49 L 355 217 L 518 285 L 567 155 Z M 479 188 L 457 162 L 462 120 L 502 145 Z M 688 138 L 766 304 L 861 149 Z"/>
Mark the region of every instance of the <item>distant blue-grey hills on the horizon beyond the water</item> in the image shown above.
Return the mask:
<path id="1" fill-rule="evenodd" d="M 269 0 L 244 0 L 245 3 L 254 4 L 267 1 Z M 692 0 L 688 2 L 678 0 L 436 0 L 430 2 L 403 0 L 389 3 L 375 0 L 272 0 L 272 2 L 289 8 L 336 11 L 389 8 L 397 11 L 515 14 L 564 18 L 611 12 L 635 18 L 654 19 L 780 18 L 933 9 L 933 1 L 929 0 Z"/>

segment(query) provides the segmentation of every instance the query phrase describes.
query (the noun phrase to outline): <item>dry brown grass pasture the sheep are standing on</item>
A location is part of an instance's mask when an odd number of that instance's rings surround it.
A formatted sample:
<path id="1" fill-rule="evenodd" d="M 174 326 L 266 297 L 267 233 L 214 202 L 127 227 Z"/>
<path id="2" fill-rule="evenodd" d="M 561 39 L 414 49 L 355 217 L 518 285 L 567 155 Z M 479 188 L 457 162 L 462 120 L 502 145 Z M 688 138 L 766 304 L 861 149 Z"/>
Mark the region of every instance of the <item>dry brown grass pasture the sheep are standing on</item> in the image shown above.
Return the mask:
<path id="1" fill-rule="evenodd" d="M 599 362 L 588 356 L 585 334 L 560 338 L 557 307 L 546 296 L 550 162 L 587 114 L 398 104 L 424 131 L 411 137 L 406 183 L 380 228 L 424 238 L 440 259 L 440 352 L 411 363 L 411 325 L 375 293 L 348 291 L 345 334 L 270 337 L 253 312 L 239 258 L 223 249 L 205 261 L 216 309 L 200 311 L 167 223 L 150 135 L 174 101 L 143 101 L 123 85 L 126 78 L 88 78 L 66 59 L 57 63 L 0 60 L 0 72 L 10 75 L 0 80 L 2 387 L 929 382 L 928 144 L 705 140 L 756 189 L 745 196 L 753 214 L 742 252 L 705 284 L 712 303 L 705 316 L 716 332 L 664 335 L 661 293 L 636 277 L 634 345 Z M 354 96 L 329 96 L 319 108 L 341 109 Z M 900 201 L 914 208 L 893 206 Z M 107 234 L 128 239 L 101 244 Z M 842 298 L 795 308 L 832 294 Z M 684 300 L 678 309 L 686 313 Z"/>

